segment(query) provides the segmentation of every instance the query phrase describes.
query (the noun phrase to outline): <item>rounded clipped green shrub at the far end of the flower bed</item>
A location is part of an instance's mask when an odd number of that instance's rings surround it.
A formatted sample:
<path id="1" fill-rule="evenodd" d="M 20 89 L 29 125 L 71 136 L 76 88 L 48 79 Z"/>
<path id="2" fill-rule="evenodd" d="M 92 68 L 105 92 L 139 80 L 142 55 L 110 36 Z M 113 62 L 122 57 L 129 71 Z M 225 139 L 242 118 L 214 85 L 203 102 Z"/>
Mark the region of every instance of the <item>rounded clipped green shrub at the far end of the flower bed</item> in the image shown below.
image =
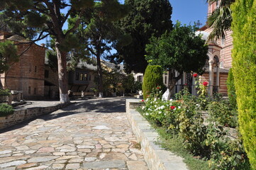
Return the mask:
<path id="1" fill-rule="evenodd" d="M 156 65 L 149 65 L 143 77 L 143 98 L 147 98 L 152 89 L 155 89 L 157 86 L 164 86 L 162 68 Z"/>

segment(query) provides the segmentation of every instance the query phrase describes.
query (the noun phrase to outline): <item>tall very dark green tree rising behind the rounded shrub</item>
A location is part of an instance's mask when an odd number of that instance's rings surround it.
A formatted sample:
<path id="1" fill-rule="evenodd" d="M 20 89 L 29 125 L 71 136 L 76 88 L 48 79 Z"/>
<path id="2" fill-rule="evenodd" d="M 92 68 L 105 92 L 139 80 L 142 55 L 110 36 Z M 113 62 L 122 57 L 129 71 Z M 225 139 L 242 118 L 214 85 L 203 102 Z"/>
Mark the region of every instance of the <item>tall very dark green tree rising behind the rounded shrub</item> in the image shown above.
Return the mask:
<path id="1" fill-rule="evenodd" d="M 160 37 L 172 30 L 172 6 L 167 0 L 126 0 L 125 4 L 130 6 L 130 13 L 118 26 L 131 36 L 131 42 L 126 47 L 116 46 L 118 53 L 111 60 L 123 61 L 128 72 L 145 72 L 145 45 L 152 35 Z"/>

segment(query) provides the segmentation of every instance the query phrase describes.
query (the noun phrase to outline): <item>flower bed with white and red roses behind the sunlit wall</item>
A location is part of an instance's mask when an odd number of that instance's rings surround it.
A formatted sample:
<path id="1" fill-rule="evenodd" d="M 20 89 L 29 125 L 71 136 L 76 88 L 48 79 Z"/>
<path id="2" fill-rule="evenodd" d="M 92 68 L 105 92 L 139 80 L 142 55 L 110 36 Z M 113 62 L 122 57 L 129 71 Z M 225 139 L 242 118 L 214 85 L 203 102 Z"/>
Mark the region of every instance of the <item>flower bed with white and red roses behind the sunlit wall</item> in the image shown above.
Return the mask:
<path id="1" fill-rule="evenodd" d="M 155 125 L 165 128 L 169 137 L 179 137 L 182 144 L 194 157 L 208 162 L 210 169 L 250 169 L 242 141 L 238 138 L 230 140 L 227 131 L 221 124 L 235 127 L 235 113 L 230 111 L 228 103 L 218 96 L 207 98 L 205 85 L 201 86 L 201 95 L 192 96 L 184 89 L 177 94 L 179 100 L 162 101 L 160 91 L 153 91 L 140 108 L 140 113 Z M 200 87 L 199 87 L 200 88 Z M 214 112 L 216 103 L 221 107 Z M 210 107 L 208 123 L 204 123 L 202 110 Z M 208 112 L 208 111 L 207 111 Z M 230 115 L 234 117 L 230 119 Z M 231 117 L 232 117 L 231 116 Z M 228 119 L 220 124 L 220 120 Z M 228 125 L 231 123 L 232 125 Z"/>

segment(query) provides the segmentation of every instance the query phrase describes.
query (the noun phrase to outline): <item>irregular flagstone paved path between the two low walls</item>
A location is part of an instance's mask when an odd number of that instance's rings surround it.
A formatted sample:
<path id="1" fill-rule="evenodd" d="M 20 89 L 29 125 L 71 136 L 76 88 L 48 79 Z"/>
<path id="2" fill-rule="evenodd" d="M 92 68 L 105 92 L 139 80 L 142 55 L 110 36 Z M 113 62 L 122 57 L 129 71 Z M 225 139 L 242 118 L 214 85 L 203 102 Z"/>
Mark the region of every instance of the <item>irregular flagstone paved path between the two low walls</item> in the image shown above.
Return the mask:
<path id="1" fill-rule="evenodd" d="M 123 98 L 77 103 L 0 133 L 0 169 L 148 169 Z"/>

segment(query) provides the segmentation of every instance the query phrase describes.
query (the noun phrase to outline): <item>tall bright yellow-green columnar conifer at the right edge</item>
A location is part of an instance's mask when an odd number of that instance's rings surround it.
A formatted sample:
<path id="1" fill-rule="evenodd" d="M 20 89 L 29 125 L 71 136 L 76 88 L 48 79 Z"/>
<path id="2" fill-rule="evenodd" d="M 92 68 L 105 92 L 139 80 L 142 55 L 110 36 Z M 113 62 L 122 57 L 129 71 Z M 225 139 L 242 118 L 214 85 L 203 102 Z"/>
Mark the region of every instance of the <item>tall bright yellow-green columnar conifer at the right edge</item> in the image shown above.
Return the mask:
<path id="1" fill-rule="evenodd" d="M 256 169 L 256 0 L 237 0 L 231 6 L 233 75 L 238 102 L 238 123 L 243 145 Z"/>

